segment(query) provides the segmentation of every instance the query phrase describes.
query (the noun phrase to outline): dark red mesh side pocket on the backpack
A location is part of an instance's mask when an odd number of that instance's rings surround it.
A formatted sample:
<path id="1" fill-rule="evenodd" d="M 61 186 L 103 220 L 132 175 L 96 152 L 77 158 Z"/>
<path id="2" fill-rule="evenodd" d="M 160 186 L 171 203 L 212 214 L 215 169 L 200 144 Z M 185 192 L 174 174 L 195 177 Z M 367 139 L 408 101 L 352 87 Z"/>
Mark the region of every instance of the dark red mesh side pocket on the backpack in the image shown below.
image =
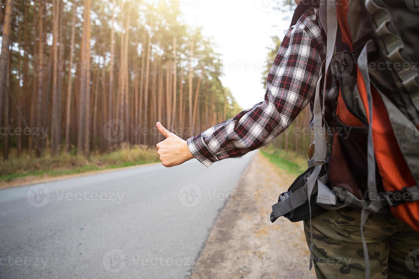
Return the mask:
<path id="1" fill-rule="evenodd" d="M 367 189 L 368 128 L 344 125 L 336 118 L 328 175 L 332 187 L 347 189 L 363 200 Z"/>

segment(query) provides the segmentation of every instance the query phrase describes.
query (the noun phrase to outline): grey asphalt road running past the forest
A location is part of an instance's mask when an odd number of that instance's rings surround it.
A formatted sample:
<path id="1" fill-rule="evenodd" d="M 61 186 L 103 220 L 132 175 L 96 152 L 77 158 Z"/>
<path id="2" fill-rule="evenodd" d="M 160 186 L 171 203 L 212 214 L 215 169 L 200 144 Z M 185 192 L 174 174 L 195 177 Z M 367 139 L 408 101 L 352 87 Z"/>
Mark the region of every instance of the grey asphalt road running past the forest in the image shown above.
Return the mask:
<path id="1" fill-rule="evenodd" d="M 187 277 L 252 155 L 1 190 L 0 278 Z"/>

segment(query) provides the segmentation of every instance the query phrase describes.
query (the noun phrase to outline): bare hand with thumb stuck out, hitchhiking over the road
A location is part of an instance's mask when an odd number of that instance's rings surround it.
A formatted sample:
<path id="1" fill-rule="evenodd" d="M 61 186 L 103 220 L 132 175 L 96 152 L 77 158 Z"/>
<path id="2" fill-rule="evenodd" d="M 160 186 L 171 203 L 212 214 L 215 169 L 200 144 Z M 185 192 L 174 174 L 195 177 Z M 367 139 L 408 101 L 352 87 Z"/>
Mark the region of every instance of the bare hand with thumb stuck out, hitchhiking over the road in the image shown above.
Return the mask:
<path id="1" fill-rule="evenodd" d="M 163 166 L 170 168 L 195 158 L 189 151 L 188 143 L 185 140 L 169 132 L 160 122 L 157 122 L 156 126 L 158 131 L 166 137 L 164 141 L 156 145 L 157 154 L 160 156 Z"/>

